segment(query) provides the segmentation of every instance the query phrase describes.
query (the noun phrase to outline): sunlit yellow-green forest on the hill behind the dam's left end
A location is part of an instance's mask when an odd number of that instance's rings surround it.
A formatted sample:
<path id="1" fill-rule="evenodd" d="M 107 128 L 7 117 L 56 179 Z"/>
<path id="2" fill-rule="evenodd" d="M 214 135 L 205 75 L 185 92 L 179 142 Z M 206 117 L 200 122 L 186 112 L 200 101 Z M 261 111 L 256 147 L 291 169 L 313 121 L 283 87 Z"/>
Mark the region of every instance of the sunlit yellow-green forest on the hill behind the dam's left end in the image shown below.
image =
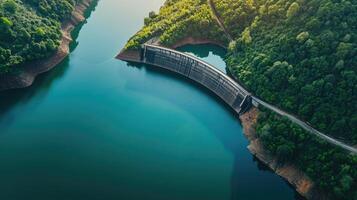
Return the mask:
<path id="1" fill-rule="evenodd" d="M 145 26 L 127 43 L 127 49 L 135 49 L 152 37 L 170 46 L 187 36 L 212 38 L 227 43 L 223 31 L 215 23 L 211 10 L 204 0 L 168 0 L 159 14 L 151 12 Z M 204 31 L 212 30 L 212 31 Z"/>

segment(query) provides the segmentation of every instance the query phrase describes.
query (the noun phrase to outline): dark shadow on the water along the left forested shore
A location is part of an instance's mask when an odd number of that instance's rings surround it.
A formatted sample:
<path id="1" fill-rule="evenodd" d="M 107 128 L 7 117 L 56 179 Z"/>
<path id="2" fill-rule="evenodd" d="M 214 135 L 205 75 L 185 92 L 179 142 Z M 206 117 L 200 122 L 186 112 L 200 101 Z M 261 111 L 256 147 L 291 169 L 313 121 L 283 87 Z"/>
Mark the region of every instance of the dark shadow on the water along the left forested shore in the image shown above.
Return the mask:
<path id="1" fill-rule="evenodd" d="M 86 10 L 84 16 L 86 19 L 90 18 L 91 14 L 95 11 L 98 5 L 98 0 L 96 0 L 89 9 Z M 71 32 L 73 42 L 70 44 L 70 52 L 74 51 L 78 46 L 78 41 L 76 40 L 79 36 L 81 28 L 86 24 L 86 20 L 76 26 Z M 69 67 L 70 57 L 66 57 L 60 64 L 58 64 L 52 70 L 40 74 L 36 77 L 34 83 L 27 88 L 13 89 L 0 92 L 0 128 L 5 128 L 4 126 L 9 126 L 14 120 L 15 116 L 9 115 L 4 118 L 5 114 L 12 110 L 15 106 L 25 104 L 33 99 L 33 97 L 43 98 L 46 96 L 47 92 L 50 90 L 53 83 L 61 79 Z"/>

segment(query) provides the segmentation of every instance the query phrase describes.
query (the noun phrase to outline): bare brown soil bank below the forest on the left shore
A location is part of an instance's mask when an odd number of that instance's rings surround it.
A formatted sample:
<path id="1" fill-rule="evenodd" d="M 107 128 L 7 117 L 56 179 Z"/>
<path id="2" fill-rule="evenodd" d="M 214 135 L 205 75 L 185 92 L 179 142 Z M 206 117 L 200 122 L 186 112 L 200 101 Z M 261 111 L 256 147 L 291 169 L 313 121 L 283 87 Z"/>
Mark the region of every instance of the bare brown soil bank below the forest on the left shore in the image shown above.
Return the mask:
<path id="1" fill-rule="evenodd" d="M 36 76 L 56 67 L 70 53 L 69 45 L 72 42 L 72 30 L 85 20 L 84 13 L 95 0 L 82 0 L 75 7 L 69 20 L 62 24 L 62 40 L 55 54 L 52 56 L 30 62 L 19 68 L 18 74 L 0 75 L 0 91 L 24 88 L 32 85 Z"/>

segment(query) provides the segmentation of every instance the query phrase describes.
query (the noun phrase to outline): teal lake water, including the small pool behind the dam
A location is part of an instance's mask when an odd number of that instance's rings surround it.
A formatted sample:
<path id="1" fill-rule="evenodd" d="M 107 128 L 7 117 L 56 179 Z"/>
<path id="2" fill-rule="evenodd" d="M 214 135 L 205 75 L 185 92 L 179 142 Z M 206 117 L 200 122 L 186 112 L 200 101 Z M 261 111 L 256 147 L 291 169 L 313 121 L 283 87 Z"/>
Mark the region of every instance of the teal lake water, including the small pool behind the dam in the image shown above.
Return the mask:
<path id="1" fill-rule="evenodd" d="M 61 65 L 0 93 L 0 199 L 289 200 L 202 87 L 114 56 L 163 0 L 102 0 Z M 188 46 L 221 66 L 224 50 Z"/>

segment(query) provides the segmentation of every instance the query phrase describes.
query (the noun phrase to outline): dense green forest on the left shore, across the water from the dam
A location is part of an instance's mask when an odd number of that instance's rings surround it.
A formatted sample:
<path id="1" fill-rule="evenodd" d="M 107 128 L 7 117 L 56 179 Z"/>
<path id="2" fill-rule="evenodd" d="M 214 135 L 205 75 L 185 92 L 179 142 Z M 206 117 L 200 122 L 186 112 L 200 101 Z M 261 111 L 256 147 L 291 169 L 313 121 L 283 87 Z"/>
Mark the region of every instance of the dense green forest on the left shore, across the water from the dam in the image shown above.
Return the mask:
<path id="1" fill-rule="evenodd" d="M 0 0 L 0 73 L 53 54 L 78 0 Z"/>

